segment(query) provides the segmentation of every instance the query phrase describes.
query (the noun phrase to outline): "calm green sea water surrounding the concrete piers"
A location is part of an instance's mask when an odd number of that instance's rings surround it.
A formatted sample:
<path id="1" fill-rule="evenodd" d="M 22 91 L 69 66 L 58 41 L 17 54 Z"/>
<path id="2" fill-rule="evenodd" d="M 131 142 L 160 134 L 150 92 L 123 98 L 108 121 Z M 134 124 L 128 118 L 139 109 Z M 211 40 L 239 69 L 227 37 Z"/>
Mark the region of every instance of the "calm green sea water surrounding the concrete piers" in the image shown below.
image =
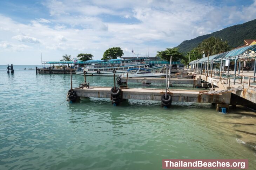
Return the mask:
<path id="1" fill-rule="evenodd" d="M 160 101 L 139 100 L 113 106 L 104 98 L 68 103 L 70 75 L 23 70 L 34 67 L 14 66 L 7 74 L 0 66 L 1 170 L 155 170 L 162 169 L 162 159 L 197 158 L 248 159 L 249 169 L 256 167 L 255 151 L 239 142 L 233 125 L 220 123 L 235 111 L 224 115 L 211 104 L 175 102 L 163 109 Z M 112 77 L 87 81 L 113 86 Z M 81 82 L 83 76 L 73 75 L 74 87 Z"/>

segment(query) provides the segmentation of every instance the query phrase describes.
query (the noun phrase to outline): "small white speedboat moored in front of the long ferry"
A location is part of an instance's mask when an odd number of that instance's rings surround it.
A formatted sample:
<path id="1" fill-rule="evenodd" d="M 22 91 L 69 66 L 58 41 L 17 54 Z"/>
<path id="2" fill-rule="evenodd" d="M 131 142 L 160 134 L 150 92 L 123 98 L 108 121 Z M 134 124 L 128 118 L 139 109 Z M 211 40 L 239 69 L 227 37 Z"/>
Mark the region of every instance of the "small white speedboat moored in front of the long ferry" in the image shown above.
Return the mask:
<path id="1" fill-rule="evenodd" d="M 148 69 L 144 69 L 144 68 L 128 69 L 127 72 L 123 73 L 120 77 L 122 78 L 127 77 L 127 74 L 129 78 L 166 77 L 166 74 L 164 73 L 151 73 Z"/>

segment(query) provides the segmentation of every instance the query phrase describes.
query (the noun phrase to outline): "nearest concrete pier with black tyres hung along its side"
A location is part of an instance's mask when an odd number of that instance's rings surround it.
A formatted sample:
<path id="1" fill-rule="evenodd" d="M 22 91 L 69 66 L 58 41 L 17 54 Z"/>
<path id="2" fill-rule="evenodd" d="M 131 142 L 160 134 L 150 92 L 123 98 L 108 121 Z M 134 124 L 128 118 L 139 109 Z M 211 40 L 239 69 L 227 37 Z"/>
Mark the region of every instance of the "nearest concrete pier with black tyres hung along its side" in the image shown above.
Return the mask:
<path id="1" fill-rule="evenodd" d="M 112 87 L 90 87 L 90 88 L 74 88 L 78 97 L 99 97 L 110 98 L 110 89 Z M 150 88 L 128 88 L 122 89 L 121 96 L 123 99 L 139 99 L 161 101 L 161 96 L 165 93 L 165 89 Z M 200 94 L 199 90 L 168 90 L 173 102 L 194 102 L 194 103 L 222 103 L 230 104 L 231 93 L 206 95 Z"/>

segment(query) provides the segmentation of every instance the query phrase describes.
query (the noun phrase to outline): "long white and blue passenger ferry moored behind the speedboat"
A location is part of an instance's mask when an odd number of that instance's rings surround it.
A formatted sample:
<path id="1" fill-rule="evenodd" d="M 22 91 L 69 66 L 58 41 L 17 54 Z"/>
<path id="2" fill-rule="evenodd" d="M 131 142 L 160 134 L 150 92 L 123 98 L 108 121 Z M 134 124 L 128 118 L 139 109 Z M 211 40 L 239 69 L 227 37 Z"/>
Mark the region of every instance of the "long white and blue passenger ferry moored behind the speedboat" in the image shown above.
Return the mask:
<path id="1" fill-rule="evenodd" d="M 93 76 L 113 76 L 114 74 L 123 74 L 128 69 L 145 68 L 153 73 L 159 73 L 163 68 L 164 61 L 150 62 L 148 58 L 135 58 L 135 59 L 111 59 L 111 60 L 88 60 L 84 61 L 85 67 L 79 67 L 76 74 Z M 155 65 L 161 64 L 161 65 Z M 134 70 L 135 71 L 135 70 Z"/>

